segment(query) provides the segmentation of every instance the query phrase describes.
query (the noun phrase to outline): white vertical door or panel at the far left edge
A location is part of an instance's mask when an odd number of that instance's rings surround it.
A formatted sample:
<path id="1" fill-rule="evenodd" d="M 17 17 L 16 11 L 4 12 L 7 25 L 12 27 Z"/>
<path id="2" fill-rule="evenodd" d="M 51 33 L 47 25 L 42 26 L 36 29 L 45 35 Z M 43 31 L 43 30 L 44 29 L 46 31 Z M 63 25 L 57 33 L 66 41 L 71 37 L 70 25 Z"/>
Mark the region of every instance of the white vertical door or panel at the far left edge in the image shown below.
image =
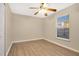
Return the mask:
<path id="1" fill-rule="evenodd" d="M 4 55 L 4 5 L 0 3 L 0 56 Z"/>

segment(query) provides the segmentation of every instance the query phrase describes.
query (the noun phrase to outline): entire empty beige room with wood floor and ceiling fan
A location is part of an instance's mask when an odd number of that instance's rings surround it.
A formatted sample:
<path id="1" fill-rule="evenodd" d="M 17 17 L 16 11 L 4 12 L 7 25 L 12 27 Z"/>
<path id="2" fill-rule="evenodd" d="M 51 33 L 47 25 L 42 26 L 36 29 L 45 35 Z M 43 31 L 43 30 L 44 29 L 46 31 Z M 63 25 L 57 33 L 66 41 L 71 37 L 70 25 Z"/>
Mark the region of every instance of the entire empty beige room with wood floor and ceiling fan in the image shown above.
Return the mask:
<path id="1" fill-rule="evenodd" d="M 0 3 L 0 56 L 79 56 L 79 3 Z"/>

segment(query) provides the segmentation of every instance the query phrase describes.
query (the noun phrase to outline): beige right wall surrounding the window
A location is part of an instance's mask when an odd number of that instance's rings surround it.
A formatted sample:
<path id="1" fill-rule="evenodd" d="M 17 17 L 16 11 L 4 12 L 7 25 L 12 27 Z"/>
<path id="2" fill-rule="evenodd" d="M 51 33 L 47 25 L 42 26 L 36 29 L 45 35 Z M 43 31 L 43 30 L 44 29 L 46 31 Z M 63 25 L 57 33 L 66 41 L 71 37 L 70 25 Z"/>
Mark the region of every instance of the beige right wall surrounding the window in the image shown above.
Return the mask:
<path id="1" fill-rule="evenodd" d="M 56 39 L 57 15 L 69 14 L 70 20 L 70 41 Z M 54 15 L 45 18 L 44 36 L 52 42 L 56 42 L 66 47 L 79 51 L 79 4 L 70 6 Z"/>

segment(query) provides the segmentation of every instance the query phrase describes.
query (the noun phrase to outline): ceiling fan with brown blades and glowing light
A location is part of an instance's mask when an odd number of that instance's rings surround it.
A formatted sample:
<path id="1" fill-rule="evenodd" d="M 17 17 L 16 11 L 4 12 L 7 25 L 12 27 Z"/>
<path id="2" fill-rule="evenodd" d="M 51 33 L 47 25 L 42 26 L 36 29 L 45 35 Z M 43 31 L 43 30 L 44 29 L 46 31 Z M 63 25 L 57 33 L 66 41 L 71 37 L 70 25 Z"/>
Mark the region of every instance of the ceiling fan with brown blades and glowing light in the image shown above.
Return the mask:
<path id="1" fill-rule="evenodd" d="M 51 11 L 51 12 L 56 12 L 57 11 L 54 8 L 48 8 L 46 3 L 41 3 L 39 8 L 37 8 L 37 7 L 29 7 L 29 9 L 38 9 L 38 11 L 36 11 L 34 13 L 34 15 L 37 15 L 40 11 L 43 10 L 45 16 L 47 16 L 48 11 Z"/>

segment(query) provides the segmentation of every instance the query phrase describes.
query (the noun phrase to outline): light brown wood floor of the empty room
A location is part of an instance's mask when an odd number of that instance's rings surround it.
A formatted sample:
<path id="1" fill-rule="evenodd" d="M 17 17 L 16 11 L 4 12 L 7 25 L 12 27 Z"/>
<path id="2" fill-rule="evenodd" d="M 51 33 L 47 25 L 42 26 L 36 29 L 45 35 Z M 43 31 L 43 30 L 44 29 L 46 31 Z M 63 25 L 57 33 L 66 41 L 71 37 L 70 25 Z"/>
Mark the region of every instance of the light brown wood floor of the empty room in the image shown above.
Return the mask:
<path id="1" fill-rule="evenodd" d="M 79 56 L 79 53 L 46 40 L 35 40 L 13 44 L 8 56 Z"/>

